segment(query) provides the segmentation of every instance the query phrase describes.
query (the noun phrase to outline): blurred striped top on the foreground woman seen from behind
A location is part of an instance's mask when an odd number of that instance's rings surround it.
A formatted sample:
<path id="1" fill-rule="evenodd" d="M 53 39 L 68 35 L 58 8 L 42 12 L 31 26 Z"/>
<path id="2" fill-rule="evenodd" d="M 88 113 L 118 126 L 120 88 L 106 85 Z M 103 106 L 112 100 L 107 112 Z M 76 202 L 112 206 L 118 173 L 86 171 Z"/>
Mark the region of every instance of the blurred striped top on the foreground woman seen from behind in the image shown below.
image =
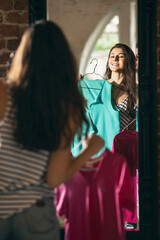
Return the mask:
<path id="1" fill-rule="evenodd" d="M 21 212 L 44 197 L 53 197 L 45 181 L 49 152 L 25 150 L 15 141 L 16 108 L 12 102 L 9 93 L 0 121 L 0 218 Z"/>

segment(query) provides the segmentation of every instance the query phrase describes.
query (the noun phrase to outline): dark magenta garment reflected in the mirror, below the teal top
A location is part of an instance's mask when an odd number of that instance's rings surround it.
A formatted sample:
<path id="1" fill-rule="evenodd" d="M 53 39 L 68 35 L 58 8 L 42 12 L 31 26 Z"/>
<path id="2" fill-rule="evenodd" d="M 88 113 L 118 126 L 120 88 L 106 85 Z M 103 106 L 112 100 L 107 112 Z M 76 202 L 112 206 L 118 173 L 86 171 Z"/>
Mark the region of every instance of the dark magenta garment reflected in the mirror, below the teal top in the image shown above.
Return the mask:
<path id="1" fill-rule="evenodd" d="M 131 172 L 132 186 L 134 189 L 135 207 L 133 211 L 124 210 L 124 220 L 129 223 L 137 223 L 137 185 L 138 185 L 138 132 L 122 130 L 113 140 L 114 153 L 120 153 L 126 157 Z"/>

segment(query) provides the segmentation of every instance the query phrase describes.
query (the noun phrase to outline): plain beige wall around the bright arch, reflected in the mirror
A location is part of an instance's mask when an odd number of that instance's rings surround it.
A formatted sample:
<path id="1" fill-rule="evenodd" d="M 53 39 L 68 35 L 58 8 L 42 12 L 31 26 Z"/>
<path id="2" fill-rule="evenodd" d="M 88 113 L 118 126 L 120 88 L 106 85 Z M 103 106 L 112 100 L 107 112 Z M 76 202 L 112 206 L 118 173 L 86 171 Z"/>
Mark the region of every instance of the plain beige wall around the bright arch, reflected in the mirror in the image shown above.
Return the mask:
<path id="1" fill-rule="evenodd" d="M 130 45 L 128 34 L 130 19 L 128 11 L 124 11 L 125 4 L 129 2 L 131 0 L 47 0 L 47 18 L 62 28 L 79 63 L 84 46 L 94 30 L 96 28 L 100 30 L 99 23 L 105 18 L 108 21 L 107 16 L 110 12 L 119 8 L 121 4 L 123 4 L 121 12 L 123 34 L 120 36 L 124 43 Z"/>

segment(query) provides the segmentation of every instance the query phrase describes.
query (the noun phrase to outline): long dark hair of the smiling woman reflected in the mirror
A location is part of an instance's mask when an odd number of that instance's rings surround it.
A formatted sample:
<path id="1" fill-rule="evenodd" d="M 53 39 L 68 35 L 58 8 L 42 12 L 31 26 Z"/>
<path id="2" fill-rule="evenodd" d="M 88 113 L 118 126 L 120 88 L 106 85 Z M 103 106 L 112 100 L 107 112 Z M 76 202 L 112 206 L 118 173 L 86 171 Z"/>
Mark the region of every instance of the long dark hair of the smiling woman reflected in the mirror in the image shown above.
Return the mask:
<path id="1" fill-rule="evenodd" d="M 108 61 L 107 61 L 107 65 L 106 65 L 106 72 L 105 72 L 106 79 L 111 78 L 112 71 L 109 68 L 108 62 L 109 62 L 111 51 L 114 48 L 121 48 L 125 55 L 125 68 L 124 68 L 124 72 L 123 72 L 124 79 L 123 79 L 123 82 L 120 87 L 124 92 L 127 92 L 127 94 L 128 94 L 127 110 L 130 114 L 130 117 L 134 118 L 135 117 L 134 107 L 136 104 L 136 79 L 135 79 L 136 59 L 135 59 L 135 54 L 133 53 L 131 48 L 129 48 L 127 45 L 122 44 L 122 43 L 115 44 L 109 52 Z"/>

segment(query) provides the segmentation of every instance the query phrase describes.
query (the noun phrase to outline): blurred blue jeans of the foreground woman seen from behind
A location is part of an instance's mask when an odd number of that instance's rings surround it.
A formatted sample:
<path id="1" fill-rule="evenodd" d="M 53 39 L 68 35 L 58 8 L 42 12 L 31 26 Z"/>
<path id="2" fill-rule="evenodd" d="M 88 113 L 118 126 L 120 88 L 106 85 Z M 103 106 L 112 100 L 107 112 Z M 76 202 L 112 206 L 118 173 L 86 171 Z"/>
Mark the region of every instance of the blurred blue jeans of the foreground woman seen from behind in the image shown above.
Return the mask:
<path id="1" fill-rule="evenodd" d="M 53 199 L 45 199 L 6 219 L 0 219 L 0 240 L 59 240 Z"/>

